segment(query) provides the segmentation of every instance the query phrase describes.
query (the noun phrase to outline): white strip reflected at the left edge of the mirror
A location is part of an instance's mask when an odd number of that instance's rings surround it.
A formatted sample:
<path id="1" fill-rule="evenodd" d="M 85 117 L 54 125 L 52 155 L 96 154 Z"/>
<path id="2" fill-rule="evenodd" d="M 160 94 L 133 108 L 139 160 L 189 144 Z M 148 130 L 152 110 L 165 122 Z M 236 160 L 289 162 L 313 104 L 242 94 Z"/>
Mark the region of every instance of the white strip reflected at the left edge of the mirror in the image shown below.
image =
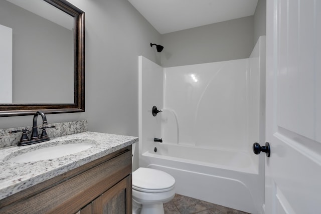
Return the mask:
<path id="1" fill-rule="evenodd" d="M 0 103 L 12 103 L 12 28 L 0 25 Z"/>

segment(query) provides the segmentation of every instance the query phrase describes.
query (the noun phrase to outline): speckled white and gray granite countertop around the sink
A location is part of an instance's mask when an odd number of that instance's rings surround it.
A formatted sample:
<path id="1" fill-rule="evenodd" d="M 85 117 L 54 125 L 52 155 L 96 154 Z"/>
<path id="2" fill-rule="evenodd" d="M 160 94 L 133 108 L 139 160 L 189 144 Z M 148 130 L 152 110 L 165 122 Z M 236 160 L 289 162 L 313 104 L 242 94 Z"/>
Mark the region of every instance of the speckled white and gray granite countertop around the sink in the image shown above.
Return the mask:
<path id="1" fill-rule="evenodd" d="M 53 138 L 50 141 L 38 144 L 2 148 L 0 149 L 0 200 L 137 141 L 137 137 L 131 136 L 82 132 Z M 12 157 L 35 149 L 80 142 L 92 143 L 94 146 L 84 151 L 55 159 L 25 163 L 8 161 Z"/>

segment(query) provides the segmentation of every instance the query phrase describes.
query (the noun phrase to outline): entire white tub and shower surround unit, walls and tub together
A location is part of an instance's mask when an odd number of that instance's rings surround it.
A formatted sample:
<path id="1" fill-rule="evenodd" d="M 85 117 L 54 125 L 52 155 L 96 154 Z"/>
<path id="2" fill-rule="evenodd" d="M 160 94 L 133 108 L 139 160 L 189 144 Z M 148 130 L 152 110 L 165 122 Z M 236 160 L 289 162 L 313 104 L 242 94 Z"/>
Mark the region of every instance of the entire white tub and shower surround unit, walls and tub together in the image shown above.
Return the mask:
<path id="1" fill-rule="evenodd" d="M 264 141 L 264 53 L 260 37 L 249 59 L 162 71 L 140 57 L 139 166 L 174 176 L 179 194 L 261 213 L 264 157 L 252 144 Z M 156 102 L 163 112 L 153 117 Z"/>

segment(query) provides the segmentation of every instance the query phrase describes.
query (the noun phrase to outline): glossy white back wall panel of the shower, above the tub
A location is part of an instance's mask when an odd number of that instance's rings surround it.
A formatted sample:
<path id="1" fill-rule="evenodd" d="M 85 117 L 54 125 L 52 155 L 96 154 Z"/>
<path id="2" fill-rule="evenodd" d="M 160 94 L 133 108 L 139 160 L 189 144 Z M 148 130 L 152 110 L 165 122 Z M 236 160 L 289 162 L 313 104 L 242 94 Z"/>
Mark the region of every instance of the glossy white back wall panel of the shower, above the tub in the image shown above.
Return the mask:
<path id="1" fill-rule="evenodd" d="M 177 117 L 179 142 L 166 132 L 164 141 L 248 152 L 249 125 L 258 125 L 258 106 L 253 106 L 258 71 L 248 63 L 241 59 L 164 68 L 164 109 Z"/>

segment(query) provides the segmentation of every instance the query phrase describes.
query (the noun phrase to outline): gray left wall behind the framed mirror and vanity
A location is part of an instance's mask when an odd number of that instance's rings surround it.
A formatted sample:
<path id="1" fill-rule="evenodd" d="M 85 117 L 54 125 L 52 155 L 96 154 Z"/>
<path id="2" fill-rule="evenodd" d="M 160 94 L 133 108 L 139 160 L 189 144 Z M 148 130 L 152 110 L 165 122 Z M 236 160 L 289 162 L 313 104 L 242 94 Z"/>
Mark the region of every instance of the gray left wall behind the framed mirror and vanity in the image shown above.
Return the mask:
<path id="1" fill-rule="evenodd" d="M 85 11 L 86 112 L 50 114 L 48 122 L 88 119 L 90 131 L 138 136 L 137 59 L 161 63 L 149 46 L 159 33 L 127 0 L 69 2 Z M 0 117 L 0 128 L 30 126 L 32 118 Z"/>

